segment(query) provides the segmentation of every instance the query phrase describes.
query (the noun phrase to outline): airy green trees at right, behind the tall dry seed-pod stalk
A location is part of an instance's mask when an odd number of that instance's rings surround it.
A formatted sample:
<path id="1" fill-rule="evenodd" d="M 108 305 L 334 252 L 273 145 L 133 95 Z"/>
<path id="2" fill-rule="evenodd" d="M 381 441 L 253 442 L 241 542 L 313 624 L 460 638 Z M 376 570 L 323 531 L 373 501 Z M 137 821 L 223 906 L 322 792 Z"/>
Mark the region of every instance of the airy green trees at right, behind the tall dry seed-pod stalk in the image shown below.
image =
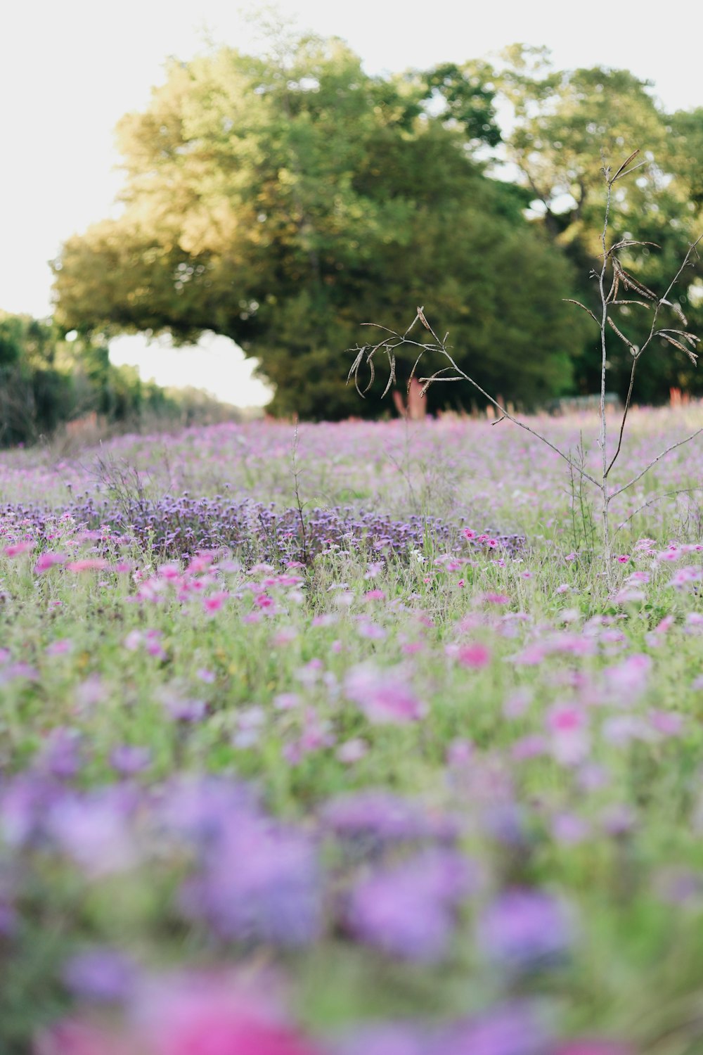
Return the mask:
<path id="1" fill-rule="evenodd" d="M 579 299 L 598 313 L 598 290 L 589 279 L 600 270 L 603 228 L 603 176 L 606 164 L 620 164 L 640 149 L 647 164 L 638 178 L 618 185 L 609 217 L 611 241 L 636 238 L 655 243 L 633 247 L 625 266 L 663 295 L 683 260 L 688 243 L 703 228 L 701 156 L 703 111 L 669 117 L 651 94 L 651 83 L 625 70 L 594 66 L 554 71 L 543 49 L 513 45 L 495 72 L 499 97 L 513 110 L 507 156 L 530 193 L 541 220 L 561 246 L 581 279 Z M 673 291 L 699 331 L 703 305 L 696 296 L 696 273 L 688 270 Z M 692 294 L 692 295 L 691 295 Z M 649 312 L 625 308 L 619 326 L 636 345 L 649 331 Z M 636 400 L 661 402 L 671 387 L 703 392 L 703 378 L 692 364 L 659 342 L 638 368 Z M 573 344 L 577 387 L 587 394 L 600 385 L 600 347 L 595 335 Z M 630 371 L 629 349 L 617 340 L 608 353 L 608 387 L 624 397 Z"/>

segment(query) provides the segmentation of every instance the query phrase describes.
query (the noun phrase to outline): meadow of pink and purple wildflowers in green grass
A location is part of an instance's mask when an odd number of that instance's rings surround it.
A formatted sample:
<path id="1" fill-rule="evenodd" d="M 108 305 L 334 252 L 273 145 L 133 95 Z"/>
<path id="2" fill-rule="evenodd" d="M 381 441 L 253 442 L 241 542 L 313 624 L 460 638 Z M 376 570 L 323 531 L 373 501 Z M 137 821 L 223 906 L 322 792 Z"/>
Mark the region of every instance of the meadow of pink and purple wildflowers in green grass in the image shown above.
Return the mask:
<path id="1" fill-rule="evenodd" d="M 608 589 L 506 421 L 4 453 L 2 1055 L 703 1051 L 702 464 Z"/>

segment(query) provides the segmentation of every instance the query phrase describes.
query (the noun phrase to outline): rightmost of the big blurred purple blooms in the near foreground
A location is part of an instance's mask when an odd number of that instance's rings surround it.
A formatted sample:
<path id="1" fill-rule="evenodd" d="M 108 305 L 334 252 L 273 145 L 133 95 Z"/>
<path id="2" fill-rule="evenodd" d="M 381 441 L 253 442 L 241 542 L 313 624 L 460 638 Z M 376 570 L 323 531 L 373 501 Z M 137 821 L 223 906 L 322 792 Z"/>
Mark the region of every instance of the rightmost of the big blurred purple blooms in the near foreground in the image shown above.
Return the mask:
<path id="1" fill-rule="evenodd" d="M 477 939 L 491 960 L 524 970 L 561 959 L 572 943 L 573 927 L 560 901 L 542 890 L 515 888 L 483 914 Z"/>

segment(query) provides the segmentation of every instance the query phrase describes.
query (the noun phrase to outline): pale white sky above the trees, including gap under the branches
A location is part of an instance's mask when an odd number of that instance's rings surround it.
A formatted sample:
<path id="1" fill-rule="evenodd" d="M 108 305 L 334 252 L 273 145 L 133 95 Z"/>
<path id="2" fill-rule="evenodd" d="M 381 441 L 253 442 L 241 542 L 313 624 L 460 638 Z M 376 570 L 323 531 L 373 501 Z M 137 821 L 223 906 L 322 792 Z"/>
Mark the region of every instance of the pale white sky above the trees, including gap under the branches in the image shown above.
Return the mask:
<path id="1" fill-rule="evenodd" d="M 631 4 L 563 0 L 279 0 L 277 7 L 301 30 L 343 37 L 371 73 L 479 58 L 522 41 L 546 44 L 564 69 L 629 69 L 653 80 L 669 109 L 703 106 L 703 20 L 690 0 L 668 0 L 656 18 Z M 51 313 L 46 262 L 64 238 L 111 212 L 120 186 L 116 122 L 148 103 L 168 56 L 190 58 L 206 34 L 252 46 L 236 0 L 0 0 L 1 309 Z M 267 399 L 224 338 L 188 351 L 123 338 L 112 354 L 160 384 L 195 384 L 239 405 Z"/>

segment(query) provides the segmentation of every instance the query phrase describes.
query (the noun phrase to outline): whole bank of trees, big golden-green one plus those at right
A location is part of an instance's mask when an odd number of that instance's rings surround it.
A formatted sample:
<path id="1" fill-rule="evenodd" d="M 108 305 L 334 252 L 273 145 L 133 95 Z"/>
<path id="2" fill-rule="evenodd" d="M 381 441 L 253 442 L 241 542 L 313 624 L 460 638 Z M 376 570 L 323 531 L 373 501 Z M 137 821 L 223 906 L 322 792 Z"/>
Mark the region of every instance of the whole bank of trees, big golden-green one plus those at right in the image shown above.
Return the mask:
<path id="1" fill-rule="evenodd" d="M 503 128 L 497 115 L 502 115 Z M 623 70 L 559 71 L 544 50 L 371 76 L 343 41 L 305 36 L 266 55 L 219 47 L 172 61 L 149 107 L 118 126 L 121 214 L 54 262 L 56 325 L 82 341 L 124 331 L 223 333 L 275 386 L 271 410 L 379 413 L 346 385 L 365 322 L 402 330 L 424 304 L 486 389 L 526 407 L 599 387 L 598 333 L 565 303 L 598 304 L 602 160 L 640 148 L 618 190 L 613 241 L 663 292 L 701 229 L 703 109 L 668 114 Z M 691 269 L 678 306 L 703 328 Z M 646 312 L 625 305 L 637 345 Z M 622 392 L 629 349 L 614 341 Z M 412 362 L 398 364 L 398 384 Z M 703 392 L 670 346 L 643 362 L 638 399 Z M 436 385 L 432 406 L 470 399 Z"/>

